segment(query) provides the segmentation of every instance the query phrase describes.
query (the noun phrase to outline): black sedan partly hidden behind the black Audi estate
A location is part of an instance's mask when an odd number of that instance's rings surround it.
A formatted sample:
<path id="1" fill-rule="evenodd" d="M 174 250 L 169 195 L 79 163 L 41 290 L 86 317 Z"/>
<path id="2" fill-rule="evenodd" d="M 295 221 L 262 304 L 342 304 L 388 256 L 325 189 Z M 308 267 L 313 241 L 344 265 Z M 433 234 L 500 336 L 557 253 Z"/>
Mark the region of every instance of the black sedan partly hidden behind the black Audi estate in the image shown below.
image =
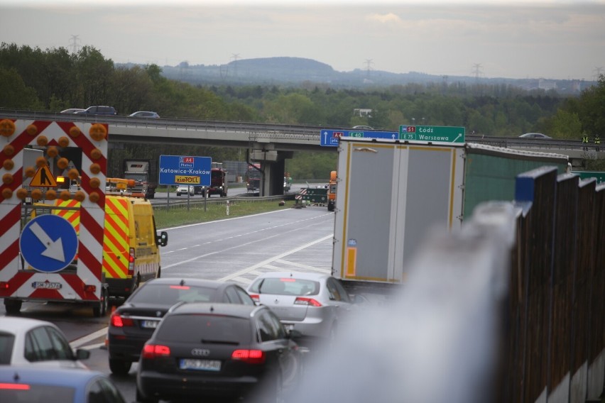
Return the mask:
<path id="1" fill-rule="evenodd" d="M 246 290 L 231 282 L 178 277 L 149 280 L 111 314 L 107 330 L 111 372 L 128 374 L 141 355 L 143 344 L 168 309 L 178 302 L 255 305 Z"/>

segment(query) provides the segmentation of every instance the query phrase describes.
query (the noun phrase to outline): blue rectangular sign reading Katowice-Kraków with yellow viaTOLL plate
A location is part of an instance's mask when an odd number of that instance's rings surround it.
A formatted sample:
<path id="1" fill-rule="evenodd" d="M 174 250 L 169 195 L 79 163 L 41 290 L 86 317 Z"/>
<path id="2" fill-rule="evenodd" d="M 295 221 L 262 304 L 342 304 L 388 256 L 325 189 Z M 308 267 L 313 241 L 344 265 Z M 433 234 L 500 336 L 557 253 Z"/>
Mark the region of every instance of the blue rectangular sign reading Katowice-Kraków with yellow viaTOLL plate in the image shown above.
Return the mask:
<path id="1" fill-rule="evenodd" d="M 160 184 L 210 186 L 210 157 L 160 155 Z"/>

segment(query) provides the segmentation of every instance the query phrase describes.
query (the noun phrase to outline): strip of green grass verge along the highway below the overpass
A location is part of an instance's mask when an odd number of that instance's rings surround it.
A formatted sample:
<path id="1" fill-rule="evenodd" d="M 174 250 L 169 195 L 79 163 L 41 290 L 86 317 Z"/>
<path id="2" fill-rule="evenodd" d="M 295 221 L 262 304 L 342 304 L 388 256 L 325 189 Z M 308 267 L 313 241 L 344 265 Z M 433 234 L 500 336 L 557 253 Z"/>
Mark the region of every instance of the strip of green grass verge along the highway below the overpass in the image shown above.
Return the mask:
<path id="1" fill-rule="evenodd" d="M 250 214 L 266 211 L 290 209 L 293 205 L 293 200 L 285 201 L 283 206 L 280 206 L 279 201 L 276 200 L 231 201 L 229 203 L 229 215 L 227 215 L 227 205 L 222 203 L 209 203 L 206 210 L 204 210 L 203 204 L 192 204 L 189 209 L 187 209 L 187 206 L 171 206 L 170 209 L 154 209 L 153 215 L 156 217 L 156 226 L 161 229 L 206 221 L 232 219 L 233 217 L 249 216 Z"/>

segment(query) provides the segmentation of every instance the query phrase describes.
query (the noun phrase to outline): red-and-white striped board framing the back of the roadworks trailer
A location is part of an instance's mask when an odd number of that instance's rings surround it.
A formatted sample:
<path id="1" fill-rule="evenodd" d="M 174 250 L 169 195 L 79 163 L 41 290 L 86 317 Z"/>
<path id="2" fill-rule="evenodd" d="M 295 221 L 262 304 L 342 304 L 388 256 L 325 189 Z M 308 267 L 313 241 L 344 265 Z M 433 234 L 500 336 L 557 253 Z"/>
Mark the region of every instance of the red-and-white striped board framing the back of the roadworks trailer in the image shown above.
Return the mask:
<path id="1" fill-rule="evenodd" d="M 0 125 L 6 121 L 0 116 Z M 10 136 L 0 136 L 0 282 L 8 282 L 9 287 L 0 289 L 0 297 L 19 297 L 24 299 L 70 299 L 70 300 L 98 300 L 101 294 L 102 255 L 103 255 L 103 228 L 105 205 L 105 181 L 107 172 L 107 136 L 101 140 L 94 140 L 89 135 L 93 123 L 73 123 L 59 121 L 26 121 L 13 120 L 15 131 Z M 75 127 L 74 127 L 75 126 Z M 3 126 L 4 127 L 4 126 Z M 107 129 L 107 125 L 104 125 Z M 72 136 L 75 128 L 80 129 L 78 136 Z M 46 142 L 40 141 L 44 136 Z M 22 201 L 16 196 L 16 191 L 23 182 L 23 148 L 34 146 L 47 150 L 49 146 L 59 146 L 59 139 L 69 139 L 68 147 L 82 150 L 82 192 L 85 200 L 80 210 L 80 236 L 78 243 L 77 270 L 75 273 L 47 273 L 23 267 L 23 260 L 19 255 L 19 237 L 21 236 Z M 40 143 L 46 143 L 41 147 Z M 7 153 L 7 147 L 12 153 Z M 99 150 L 101 156 L 93 153 Z M 93 157 L 94 155 L 94 157 Z M 45 153 L 45 158 L 48 155 Z M 7 160 L 12 160 L 5 163 Z M 94 174 L 90 167 L 93 163 L 99 165 L 100 172 Z M 10 174 L 10 175 L 6 175 Z M 5 177 L 12 175 L 12 182 L 4 181 Z M 92 177 L 99 179 L 100 185 L 92 189 L 89 180 Z M 11 189 L 11 197 L 5 197 Z M 93 202 L 89 194 L 94 191 L 99 199 Z M 43 192 L 44 194 L 44 192 Z M 60 283 L 59 289 L 33 288 L 33 282 Z M 85 285 L 96 286 L 96 291 L 85 292 Z"/>

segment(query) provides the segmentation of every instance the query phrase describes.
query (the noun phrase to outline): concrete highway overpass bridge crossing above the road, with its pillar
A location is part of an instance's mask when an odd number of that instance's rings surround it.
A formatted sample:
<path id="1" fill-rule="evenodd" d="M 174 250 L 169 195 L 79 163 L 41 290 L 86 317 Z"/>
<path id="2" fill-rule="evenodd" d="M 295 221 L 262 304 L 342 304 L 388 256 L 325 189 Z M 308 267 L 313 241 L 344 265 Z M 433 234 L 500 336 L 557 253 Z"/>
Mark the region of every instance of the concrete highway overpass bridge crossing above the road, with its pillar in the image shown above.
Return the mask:
<path id="1" fill-rule="evenodd" d="M 120 143 L 157 143 L 233 147 L 247 150 L 249 163 L 261 164 L 261 194 L 283 193 L 285 160 L 296 151 L 335 153 L 336 147 L 320 145 L 320 130 L 326 126 L 271 123 L 199 121 L 182 118 L 130 118 L 126 116 L 89 116 L 38 111 L 0 110 L 1 118 L 45 121 L 98 121 L 109 124 L 109 148 Z M 334 128 L 334 127 L 332 127 Z M 573 167 L 584 166 L 587 159 L 605 158 L 605 150 L 594 144 L 585 147 L 580 140 L 535 140 L 466 136 L 467 142 L 495 145 L 515 150 L 567 155 Z"/>

